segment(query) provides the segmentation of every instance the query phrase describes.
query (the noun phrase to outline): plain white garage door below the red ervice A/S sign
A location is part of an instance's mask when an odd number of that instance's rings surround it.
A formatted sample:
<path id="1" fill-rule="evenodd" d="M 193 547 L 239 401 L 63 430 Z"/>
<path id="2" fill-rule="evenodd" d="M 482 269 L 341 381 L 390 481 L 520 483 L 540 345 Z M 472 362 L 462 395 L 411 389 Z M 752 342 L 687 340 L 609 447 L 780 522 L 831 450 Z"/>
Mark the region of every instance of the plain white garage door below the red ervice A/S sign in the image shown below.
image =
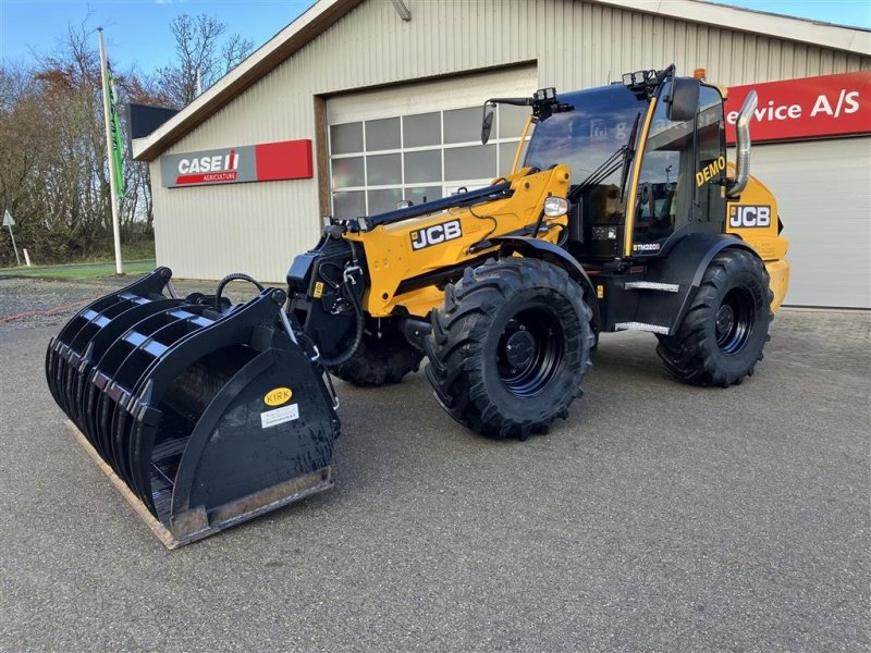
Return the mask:
<path id="1" fill-rule="evenodd" d="M 788 306 L 871 308 L 871 138 L 755 145 L 792 264 Z"/>

